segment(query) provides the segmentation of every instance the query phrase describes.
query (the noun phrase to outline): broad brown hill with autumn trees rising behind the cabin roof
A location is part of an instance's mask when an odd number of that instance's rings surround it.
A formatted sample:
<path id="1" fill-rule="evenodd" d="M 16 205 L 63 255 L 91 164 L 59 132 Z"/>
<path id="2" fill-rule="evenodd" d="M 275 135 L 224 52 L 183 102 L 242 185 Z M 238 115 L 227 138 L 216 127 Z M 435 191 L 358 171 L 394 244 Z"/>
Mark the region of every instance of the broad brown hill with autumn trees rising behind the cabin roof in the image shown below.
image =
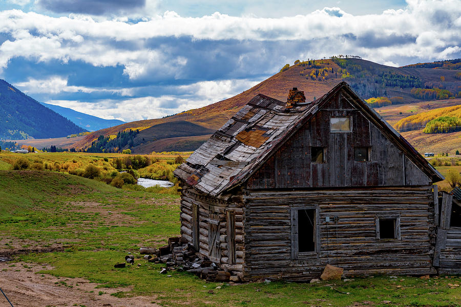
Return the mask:
<path id="1" fill-rule="evenodd" d="M 457 59 L 447 65 L 443 63 L 435 67 L 414 65 L 396 68 L 360 58 L 297 61 L 234 97 L 165 118 L 135 121 L 98 130 L 76 142 L 74 146 L 89 146 L 99 135 L 115 135 L 127 128 L 152 127 L 175 121 L 187 121 L 216 130 L 257 94 L 285 101 L 288 91 L 295 86 L 304 91 L 307 101 L 319 98 L 341 81 L 348 82 L 362 99 L 385 96 L 393 100 L 392 103 L 407 104 L 431 100 L 427 97 L 432 96 L 440 98 L 439 94 L 446 93 L 449 93 L 446 94 L 447 99 L 460 98 L 460 63 L 461 59 Z M 421 91 L 415 92 L 413 89 Z M 193 140 L 193 137 L 187 139 L 188 142 Z"/>

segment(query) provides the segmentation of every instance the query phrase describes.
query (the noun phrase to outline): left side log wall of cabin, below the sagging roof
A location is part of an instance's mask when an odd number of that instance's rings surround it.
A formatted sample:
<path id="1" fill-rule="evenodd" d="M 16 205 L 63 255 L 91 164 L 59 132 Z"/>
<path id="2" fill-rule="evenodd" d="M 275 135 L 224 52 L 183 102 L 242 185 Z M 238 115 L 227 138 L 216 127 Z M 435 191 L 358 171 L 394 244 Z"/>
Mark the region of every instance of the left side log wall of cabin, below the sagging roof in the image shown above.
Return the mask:
<path id="1" fill-rule="evenodd" d="M 188 185 L 182 186 L 181 194 L 181 236 L 188 243 L 193 244 L 193 212 L 194 206 L 198 207 L 199 217 L 199 252 L 201 256 L 206 256 L 218 264 L 227 266 L 229 271 L 242 271 L 243 264 L 243 204 L 242 202 L 224 202 L 217 200 L 211 196 L 204 196 L 196 193 L 194 188 Z M 231 219 L 234 225 L 229 228 L 234 231 L 234 238 L 227 237 L 227 221 L 228 213 L 233 212 Z M 210 230 L 218 227 L 218 235 L 212 243 L 213 238 L 210 237 Z M 216 242 L 218 243 L 217 245 Z M 229 246 L 231 252 L 235 253 L 229 261 Z M 211 243 L 214 246 L 211 246 Z M 212 249 L 215 248 L 214 251 Z M 217 253 L 217 257 L 212 255 Z M 216 255 L 216 254 L 215 254 Z M 233 261 L 235 258 L 235 261 Z M 229 264 L 229 262 L 231 262 Z M 235 262 L 235 263 L 232 263 Z"/>

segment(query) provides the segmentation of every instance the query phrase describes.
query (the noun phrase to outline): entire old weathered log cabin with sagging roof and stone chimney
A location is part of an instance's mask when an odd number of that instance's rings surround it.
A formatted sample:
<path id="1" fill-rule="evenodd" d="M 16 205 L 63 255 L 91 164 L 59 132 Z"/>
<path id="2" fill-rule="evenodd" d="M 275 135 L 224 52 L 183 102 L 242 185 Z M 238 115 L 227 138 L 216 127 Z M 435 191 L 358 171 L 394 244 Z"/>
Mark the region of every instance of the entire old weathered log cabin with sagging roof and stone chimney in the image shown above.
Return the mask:
<path id="1" fill-rule="evenodd" d="M 436 272 L 443 177 L 345 82 L 257 95 L 175 175 L 181 236 L 241 278 Z"/>

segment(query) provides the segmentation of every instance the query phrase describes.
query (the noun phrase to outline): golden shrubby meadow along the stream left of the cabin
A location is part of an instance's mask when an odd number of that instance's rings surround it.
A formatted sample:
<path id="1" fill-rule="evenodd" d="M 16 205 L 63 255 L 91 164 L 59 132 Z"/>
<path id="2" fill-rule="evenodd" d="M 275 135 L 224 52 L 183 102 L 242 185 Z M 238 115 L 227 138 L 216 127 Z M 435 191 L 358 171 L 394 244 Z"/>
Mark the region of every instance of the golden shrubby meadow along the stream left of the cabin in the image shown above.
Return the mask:
<path id="1" fill-rule="evenodd" d="M 173 171 L 191 152 L 154 152 L 151 155 L 89 152 L 36 152 L 27 155 L 3 150 L 0 170 L 33 169 L 58 171 L 95 179 L 118 188 L 143 190 L 135 180 L 139 177 L 169 180 L 176 183 Z M 121 172 L 128 172 L 122 174 Z M 117 180 L 114 181 L 114 179 Z M 178 194 L 178 185 L 171 188 L 151 187 L 151 192 Z"/>

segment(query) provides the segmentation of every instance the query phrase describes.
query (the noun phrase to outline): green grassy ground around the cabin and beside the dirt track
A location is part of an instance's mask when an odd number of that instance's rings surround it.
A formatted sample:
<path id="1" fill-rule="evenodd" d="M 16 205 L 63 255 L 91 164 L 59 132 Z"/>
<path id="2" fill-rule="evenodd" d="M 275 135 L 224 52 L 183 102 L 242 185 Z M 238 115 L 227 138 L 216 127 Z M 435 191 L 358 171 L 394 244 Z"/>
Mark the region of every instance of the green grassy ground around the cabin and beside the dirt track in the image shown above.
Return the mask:
<path id="1" fill-rule="evenodd" d="M 461 288 L 449 287 L 449 283 L 461 283 L 459 276 L 374 276 L 349 282 L 273 281 L 227 286 L 188 273 L 159 274 L 162 265 L 142 260 L 137 252 L 141 246 L 158 247 L 167 237 L 179 234 L 176 195 L 126 191 L 68 174 L 26 170 L 0 171 L 0 200 L 0 255 L 15 257 L 24 267 L 12 264 L 3 273 L 29 270 L 24 263 L 48 264 L 54 269 L 38 273 L 85 278 L 98 284 L 94 292 L 111 289 L 118 298 L 148 296 L 162 306 L 461 304 Z M 141 266 L 115 270 L 113 265 L 123 261 L 128 252 L 135 254 L 135 264 Z M 118 287 L 129 290 L 114 290 Z"/>

